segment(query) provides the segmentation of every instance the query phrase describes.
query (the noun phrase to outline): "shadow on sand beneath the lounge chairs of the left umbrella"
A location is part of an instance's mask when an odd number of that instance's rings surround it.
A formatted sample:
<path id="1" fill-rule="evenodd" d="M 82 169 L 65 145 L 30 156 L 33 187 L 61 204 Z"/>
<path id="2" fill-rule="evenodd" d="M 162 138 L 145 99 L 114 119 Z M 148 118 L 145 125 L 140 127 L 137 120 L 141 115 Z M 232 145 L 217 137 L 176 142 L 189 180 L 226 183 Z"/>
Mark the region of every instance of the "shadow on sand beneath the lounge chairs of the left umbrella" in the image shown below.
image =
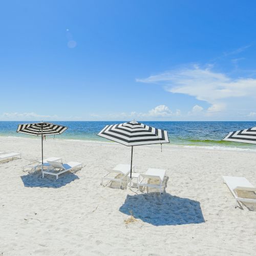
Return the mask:
<path id="1" fill-rule="evenodd" d="M 25 187 L 52 187 L 52 188 L 59 188 L 71 183 L 74 180 L 79 179 L 78 176 L 70 172 L 60 175 L 57 181 L 55 176 L 48 175 L 48 176 L 45 176 L 44 179 L 42 179 L 41 176 L 42 176 L 41 172 L 38 172 L 36 174 L 29 173 L 27 175 L 20 176 L 20 178 L 22 179 Z"/>

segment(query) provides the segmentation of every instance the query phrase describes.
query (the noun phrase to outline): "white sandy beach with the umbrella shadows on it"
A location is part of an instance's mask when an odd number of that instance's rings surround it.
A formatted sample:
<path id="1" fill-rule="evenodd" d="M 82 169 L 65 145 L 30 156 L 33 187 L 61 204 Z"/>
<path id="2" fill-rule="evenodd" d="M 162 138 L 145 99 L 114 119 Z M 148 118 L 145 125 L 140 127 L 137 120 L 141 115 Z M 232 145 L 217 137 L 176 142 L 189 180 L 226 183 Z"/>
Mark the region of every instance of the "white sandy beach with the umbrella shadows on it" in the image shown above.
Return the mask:
<path id="1" fill-rule="evenodd" d="M 0 255 L 255 255 L 256 211 L 235 209 L 221 177 L 244 176 L 256 186 L 256 153 L 135 147 L 137 172 L 166 169 L 160 196 L 100 186 L 107 168 L 130 163 L 130 147 L 44 144 L 45 157 L 84 167 L 57 182 L 41 179 L 22 172 L 27 159 L 40 158 L 40 140 L 0 138 L 0 151 L 22 153 L 0 164 Z M 125 224 L 130 210 L 137 221 Z"/>

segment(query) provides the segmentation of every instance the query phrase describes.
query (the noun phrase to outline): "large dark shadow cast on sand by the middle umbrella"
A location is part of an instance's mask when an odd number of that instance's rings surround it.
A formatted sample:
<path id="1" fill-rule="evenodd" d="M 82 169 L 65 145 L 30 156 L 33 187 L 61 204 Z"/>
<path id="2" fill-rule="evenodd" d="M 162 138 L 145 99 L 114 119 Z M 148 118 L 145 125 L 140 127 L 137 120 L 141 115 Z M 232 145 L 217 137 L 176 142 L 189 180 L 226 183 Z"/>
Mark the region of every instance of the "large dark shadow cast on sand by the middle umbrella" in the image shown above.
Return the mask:
<path id="1" fill-rule="evenodd" d="M 119 211 L 155 226 L 205 222 L 198 201 L 172 196 L 168 193 L 127 195 Z"/>

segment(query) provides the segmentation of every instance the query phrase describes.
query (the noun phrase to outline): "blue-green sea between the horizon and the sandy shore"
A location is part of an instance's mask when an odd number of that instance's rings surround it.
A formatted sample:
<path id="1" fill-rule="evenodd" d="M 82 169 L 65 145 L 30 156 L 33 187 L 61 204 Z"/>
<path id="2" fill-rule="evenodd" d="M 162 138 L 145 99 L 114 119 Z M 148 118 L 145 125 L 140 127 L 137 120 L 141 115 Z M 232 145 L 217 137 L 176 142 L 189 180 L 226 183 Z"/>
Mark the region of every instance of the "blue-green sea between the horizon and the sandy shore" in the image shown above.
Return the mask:
<path id="1" fill-rule="evenodd" d="M 121 123 L 121 121 L 52 122 L 69 127 L 65 133 L 57 135 L 58 139 L 78 139 L 105 142 L 109 142 L 109 140 L 97 136 L 97 133 L 101 131 L 105 125 Z M 28 121 L 0 121 L 0 136 L 34 137 L 16 133 L 18 123 L 28 123 Z M 256 149 L 256 145 L 253 144 L 222 141 L 229 132 L 256 126 L 256 122 L 143 121 L 143 123 L 159 129 L 167 130 L 170 143 L 175 145 L 222 146 Z"/>

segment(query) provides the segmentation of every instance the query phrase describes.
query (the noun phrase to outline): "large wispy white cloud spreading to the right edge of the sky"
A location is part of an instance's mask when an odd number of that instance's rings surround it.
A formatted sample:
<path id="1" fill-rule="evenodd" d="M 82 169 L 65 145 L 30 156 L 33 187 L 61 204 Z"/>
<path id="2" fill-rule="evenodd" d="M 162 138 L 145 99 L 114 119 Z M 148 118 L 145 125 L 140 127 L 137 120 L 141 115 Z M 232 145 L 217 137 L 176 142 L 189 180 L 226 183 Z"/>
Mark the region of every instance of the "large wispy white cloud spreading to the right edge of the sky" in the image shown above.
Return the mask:
<path id="1" fill-rule="evenodd" d="M 211 104 L 207 110 L 210 113 L 223 111 L 228 98 L 256 98 L 256 79 L 233 79 L 196 65 L 190 69 L 173 70 L 136 81 L 162 84 L 168 92 L 186 94 L 206 101 Z"/>

